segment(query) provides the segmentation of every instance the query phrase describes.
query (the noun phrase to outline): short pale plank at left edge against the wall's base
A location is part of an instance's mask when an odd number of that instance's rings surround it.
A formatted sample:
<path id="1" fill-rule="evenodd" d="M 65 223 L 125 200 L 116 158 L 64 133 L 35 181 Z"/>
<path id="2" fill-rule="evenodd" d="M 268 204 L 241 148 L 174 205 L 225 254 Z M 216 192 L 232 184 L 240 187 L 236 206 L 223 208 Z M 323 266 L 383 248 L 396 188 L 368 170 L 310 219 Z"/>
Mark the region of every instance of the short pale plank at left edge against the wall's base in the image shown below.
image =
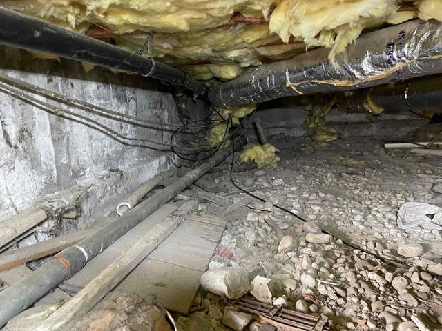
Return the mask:
<path id="1" fill-rule="evenodd" d="M 48 214 L 41 208 L 31 208 L 1 221 L 0 248 L 47 218 Z"/>

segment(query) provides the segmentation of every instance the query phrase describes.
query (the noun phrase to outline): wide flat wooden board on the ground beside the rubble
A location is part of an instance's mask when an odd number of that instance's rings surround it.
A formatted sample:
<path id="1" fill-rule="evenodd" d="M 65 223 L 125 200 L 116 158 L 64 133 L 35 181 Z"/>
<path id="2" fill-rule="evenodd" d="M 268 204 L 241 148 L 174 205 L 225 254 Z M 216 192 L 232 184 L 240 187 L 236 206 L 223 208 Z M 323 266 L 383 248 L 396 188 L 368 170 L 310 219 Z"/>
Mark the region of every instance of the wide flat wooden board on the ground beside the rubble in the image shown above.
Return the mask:
<path id="1" fill-rule="evenodd" d="M 225 226 L 215 216 L 191 215 L 115 290 L 155 296 L 168 310 L 186 314 Z"/>

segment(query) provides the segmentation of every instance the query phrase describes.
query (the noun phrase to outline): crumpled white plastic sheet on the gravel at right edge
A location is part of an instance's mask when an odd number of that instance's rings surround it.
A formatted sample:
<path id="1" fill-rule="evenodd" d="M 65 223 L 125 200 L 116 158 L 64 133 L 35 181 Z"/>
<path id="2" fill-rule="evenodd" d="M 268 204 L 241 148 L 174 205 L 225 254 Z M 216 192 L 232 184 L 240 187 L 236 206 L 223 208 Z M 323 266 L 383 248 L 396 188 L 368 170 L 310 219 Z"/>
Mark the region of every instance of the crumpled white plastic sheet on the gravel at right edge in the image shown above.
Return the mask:
<path id="1" fill-rule="evenodd" d="M 407 202 L 398 211 L 398 227 L 442 230 L 442 208 L 429 203 Z"/>

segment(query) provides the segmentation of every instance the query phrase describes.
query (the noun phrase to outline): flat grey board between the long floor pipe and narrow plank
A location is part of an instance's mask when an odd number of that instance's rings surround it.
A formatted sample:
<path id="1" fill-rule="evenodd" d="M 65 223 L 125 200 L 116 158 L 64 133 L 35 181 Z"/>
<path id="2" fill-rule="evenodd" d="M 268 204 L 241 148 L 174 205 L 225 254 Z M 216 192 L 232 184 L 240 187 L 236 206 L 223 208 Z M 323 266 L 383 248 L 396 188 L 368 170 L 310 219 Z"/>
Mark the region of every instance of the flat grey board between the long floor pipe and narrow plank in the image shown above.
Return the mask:
<path id="1" fill-rule="evenodd" d="M 113 261 L 127 252 L 129 248 L 133 246 L 135 242 L 140 240 L 148 230 L 151 230 L 157 223 L 160 223 L 169 214 L 176 210 L 176 206 L 172 203 L 167 203 L 153 212 L 144 221 L 135 226 L 132 230 L 124 234 L 123 237 L 115 241 L 106 250 L 97 255 L 94 259 L 88 262 L 77 274 L 73 275 L 70 279 L 64 281 L 59 285 L 59 288 L 65 290 L 70 294 L 77 294 L 82 290 L 90 281 L 98 276 L 100 272 L 108 267 Z"/>

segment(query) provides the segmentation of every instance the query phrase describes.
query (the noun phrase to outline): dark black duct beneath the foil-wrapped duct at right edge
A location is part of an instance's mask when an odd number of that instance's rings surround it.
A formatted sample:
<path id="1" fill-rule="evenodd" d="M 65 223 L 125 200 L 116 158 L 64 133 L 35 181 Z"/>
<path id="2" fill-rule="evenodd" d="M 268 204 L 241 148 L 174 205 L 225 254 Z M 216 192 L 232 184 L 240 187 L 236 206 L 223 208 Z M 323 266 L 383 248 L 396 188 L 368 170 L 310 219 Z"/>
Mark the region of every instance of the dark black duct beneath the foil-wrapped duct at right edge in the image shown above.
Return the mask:
<path id="1" fill-rule="evenodd" d="M 338 108 L 345 112 L 442 114 L 442 76 L 434 75 L 340 94 Z"/>

